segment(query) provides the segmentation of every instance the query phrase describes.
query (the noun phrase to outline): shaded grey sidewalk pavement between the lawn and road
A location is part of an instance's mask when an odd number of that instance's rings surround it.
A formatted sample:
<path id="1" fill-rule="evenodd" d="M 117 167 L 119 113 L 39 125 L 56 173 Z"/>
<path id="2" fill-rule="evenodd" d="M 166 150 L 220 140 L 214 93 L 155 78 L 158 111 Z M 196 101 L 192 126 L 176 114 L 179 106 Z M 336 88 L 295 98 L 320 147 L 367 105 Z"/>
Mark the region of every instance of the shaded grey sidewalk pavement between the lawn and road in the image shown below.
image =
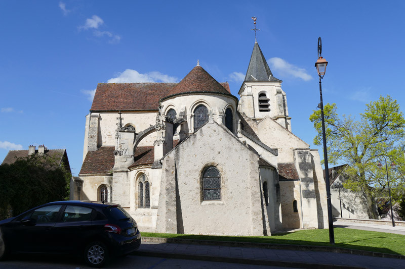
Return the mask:
<path id="1" fill-rule="evenodd" d="M 327 251 L 268 249 L 192 243 L 145 242 L 134 255 L 295 268 L 405 268 L 405 259 Z M 215 242 L 212 242 L 215 244 Z M 237 244 L 235 244 L 237 245 Z"/>

